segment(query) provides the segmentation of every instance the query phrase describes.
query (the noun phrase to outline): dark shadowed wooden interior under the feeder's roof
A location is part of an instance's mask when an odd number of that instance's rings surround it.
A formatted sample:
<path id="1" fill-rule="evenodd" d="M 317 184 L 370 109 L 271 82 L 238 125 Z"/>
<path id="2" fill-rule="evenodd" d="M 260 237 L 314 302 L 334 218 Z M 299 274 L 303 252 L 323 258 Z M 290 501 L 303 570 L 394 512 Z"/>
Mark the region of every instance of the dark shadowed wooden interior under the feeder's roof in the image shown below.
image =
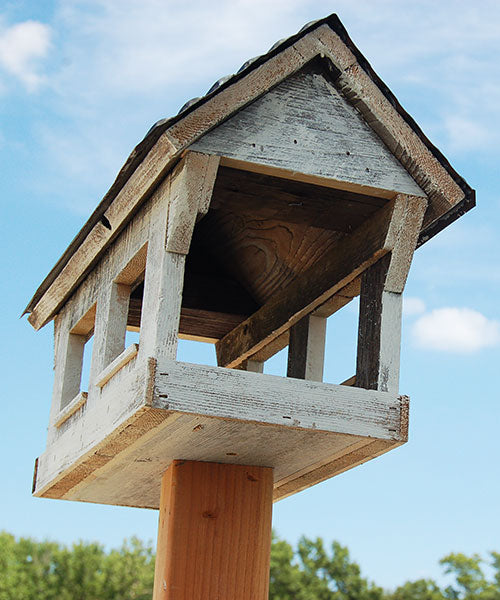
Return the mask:
<path id="1" fill-rule="evenodd" d="M 216 341 L 313 267 L 384 198 L 220 167 L 186 259 L 179 333 Z M 144 284 L 128 325 L 140 326 Z"/>

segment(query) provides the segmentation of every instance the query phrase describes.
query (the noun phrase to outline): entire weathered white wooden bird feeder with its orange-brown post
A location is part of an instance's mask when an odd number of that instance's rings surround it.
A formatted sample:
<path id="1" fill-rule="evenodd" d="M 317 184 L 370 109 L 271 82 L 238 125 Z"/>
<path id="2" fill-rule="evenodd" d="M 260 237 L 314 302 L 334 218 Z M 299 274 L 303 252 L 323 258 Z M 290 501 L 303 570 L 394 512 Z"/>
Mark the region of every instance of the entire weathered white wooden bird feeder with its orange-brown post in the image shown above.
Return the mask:
<path id="1" fill-rule="evenodd" d="M 472 206 L 335 15 L 248 61 L 151 129 L 26 308 L 55 331 L 35 496 L 159 508 L 156 599 L 264 600 L 272 500 L 406 442 L 413 252 Z M 323 383 L 358 295 L 355 376 Z"/>

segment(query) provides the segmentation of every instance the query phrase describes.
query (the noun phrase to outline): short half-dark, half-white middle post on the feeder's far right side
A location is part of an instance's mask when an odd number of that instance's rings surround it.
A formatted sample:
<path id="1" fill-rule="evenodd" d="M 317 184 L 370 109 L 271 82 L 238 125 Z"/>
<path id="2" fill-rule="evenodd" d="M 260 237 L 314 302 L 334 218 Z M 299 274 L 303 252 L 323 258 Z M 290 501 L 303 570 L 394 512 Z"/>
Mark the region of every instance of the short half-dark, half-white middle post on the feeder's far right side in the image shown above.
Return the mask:
<path id="1" fill-rule="evenodd" d="M 323 381 L 326 318 L 307 315 L 290 328 L 287 377 Z"/>

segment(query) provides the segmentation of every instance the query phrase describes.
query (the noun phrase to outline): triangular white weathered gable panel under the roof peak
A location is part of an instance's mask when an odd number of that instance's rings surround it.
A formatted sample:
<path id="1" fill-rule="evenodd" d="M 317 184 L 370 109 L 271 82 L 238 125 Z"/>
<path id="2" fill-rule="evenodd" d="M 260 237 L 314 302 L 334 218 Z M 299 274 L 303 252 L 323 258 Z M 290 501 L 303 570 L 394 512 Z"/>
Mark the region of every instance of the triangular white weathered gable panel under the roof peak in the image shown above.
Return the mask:
<path id="1" fill-rule="evenodd" d="M 318 61 L 319 62 L 319 61 Z M 315 61 L 205 134 L 190 149 L 416 196 L 415 183 Z"/>

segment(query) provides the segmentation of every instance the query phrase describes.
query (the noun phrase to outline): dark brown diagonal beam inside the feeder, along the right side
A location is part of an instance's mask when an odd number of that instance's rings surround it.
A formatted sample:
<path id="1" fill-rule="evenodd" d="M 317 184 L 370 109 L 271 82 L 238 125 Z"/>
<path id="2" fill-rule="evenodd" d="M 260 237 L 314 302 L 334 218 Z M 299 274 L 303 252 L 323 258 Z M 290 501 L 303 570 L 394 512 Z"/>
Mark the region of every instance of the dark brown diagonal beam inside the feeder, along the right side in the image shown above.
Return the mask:
<path id="1" fill-rule="evenodd" d="M 262 308 L 217 343 L 219 364 L 235 367 L 256 354 L 390 252 L 404 211 L 405 198 L 379 209 L 372 219 L 332 246 L 321 261 L 275 293 Z"/>

